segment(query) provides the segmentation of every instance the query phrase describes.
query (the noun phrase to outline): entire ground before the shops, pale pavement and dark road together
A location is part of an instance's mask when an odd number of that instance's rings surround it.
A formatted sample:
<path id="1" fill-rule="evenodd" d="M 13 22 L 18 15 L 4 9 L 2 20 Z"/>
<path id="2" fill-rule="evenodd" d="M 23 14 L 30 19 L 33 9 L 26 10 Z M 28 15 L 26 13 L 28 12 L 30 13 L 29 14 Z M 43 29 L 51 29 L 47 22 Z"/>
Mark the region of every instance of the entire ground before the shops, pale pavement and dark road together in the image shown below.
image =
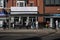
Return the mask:
<path id="1" fill-rule="evenodd" d="M 0 40 L 60 40 L 60 29 L 27 30 L 0 31 Z"/>

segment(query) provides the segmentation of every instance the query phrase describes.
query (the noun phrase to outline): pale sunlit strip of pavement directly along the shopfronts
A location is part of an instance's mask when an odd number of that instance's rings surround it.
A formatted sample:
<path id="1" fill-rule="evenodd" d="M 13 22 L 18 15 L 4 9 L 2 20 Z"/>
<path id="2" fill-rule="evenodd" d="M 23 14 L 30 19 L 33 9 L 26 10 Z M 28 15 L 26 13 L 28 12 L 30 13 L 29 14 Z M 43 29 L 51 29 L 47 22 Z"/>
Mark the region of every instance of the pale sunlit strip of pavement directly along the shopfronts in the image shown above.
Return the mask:
<path id="1" fill-rule="evenodd" d="M 47 32 L 55 32 L 54 29 L 50 29 L 50 28 L 43 28 L 43 29 L 0 29 L 0 32 L 43 32 L 43 33 L 47 33 Z"/>

